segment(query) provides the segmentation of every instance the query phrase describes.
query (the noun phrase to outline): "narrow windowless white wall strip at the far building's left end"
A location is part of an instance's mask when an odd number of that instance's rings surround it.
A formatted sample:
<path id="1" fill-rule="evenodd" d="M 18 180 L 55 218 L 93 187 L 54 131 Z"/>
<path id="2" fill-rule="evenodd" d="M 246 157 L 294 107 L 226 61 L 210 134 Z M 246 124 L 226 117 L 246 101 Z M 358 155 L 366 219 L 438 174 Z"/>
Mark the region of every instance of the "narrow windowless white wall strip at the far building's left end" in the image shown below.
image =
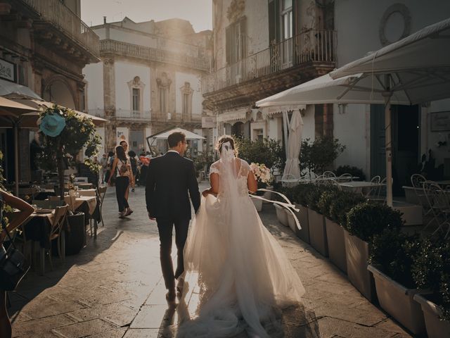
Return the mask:
<path id="1" fill-rule="evenodd" d="M 103 63 L 91 63 L 83 68 L 87 84 L 87 109 L 94 111 L 104 108 L 103 101 Z"/>

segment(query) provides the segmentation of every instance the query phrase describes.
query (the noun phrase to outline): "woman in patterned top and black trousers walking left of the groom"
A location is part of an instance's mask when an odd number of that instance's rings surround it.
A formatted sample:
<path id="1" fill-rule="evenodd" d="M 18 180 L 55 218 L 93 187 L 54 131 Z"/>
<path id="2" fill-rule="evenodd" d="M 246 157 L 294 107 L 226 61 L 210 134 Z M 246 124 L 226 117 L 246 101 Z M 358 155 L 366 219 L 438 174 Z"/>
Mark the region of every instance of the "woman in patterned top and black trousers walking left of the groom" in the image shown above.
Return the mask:
<path id="1" fill-rule="evenodd" d="M 129 182 L 133 180 L 133 172 L 131 171 L 131 163 L 129 162 L 129 158 L 125 153 L 123 146 L 115 147 L 115 155 L 110 177 L 108 178 L 108 184 L 110 184 L 111 177 L 113 177 L 113 174 L 117 168 L 117 177 L 115 178 L 115 194 L 117 198 L 117 205 L 119 206 L 119 217 L 124 218 L 133 213 L 128 204 L 127 193 Z"/>

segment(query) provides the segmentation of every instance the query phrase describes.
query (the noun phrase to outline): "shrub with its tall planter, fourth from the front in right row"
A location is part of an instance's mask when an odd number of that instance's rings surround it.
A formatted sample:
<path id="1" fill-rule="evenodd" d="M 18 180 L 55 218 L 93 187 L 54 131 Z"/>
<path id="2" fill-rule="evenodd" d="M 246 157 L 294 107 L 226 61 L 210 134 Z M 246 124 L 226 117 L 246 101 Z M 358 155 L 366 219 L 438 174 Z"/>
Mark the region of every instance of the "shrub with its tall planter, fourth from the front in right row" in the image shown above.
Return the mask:
<path id="1" fill-rule="evenodd" d="M 341 223 L 347 212 L 361 202 L 361 199 L 355 199 L 355 196 L 358 195 L 333 188 L 323 192 L 319 200 L 319 208 L 325 216 L 328 256 L 330 261 L 345 273 L 347 273 L 347 258 L 345 256 L 344 229 Z"/>

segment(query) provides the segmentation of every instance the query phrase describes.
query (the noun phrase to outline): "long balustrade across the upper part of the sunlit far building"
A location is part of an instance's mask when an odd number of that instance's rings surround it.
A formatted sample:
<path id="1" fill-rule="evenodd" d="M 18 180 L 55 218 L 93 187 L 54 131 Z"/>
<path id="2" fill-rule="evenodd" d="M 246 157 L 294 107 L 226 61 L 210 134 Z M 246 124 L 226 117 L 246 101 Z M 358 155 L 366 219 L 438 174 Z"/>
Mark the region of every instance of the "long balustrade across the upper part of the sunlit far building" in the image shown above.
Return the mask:
<path id="1" fill-rule="evenodd" d="M 146 61 L 158 61 L 164 63 L 172 63 L 197 70 L 210 70 L 210 63 L 205 58 L 195 58 L 184 54 L 166 51 L 165 49 L 155 49 L 151 47 L 139 46 L 137 44 L 128 44 L 111 39 L 100 41 L 100 51 L 102 54 L 111 53 L 120 56 L 129 56 L 132 58 L 140 58 Z"/>

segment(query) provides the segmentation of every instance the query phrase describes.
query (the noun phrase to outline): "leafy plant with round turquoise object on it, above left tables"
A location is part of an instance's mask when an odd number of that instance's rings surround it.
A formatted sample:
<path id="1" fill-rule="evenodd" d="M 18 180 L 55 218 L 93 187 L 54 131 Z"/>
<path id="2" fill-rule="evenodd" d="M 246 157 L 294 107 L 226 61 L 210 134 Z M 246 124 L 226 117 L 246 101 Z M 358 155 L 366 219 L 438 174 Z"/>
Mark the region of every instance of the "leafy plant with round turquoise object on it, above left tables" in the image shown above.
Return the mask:
<path id="1" fill-rule="evenodd" d="M 75 164 L 79 151 L 88 157 L 98 154 L 101 138 L 92 119 L 70 108 L 54 105 L 40 114 L 43 152 L 39 164 L 44 170 L 58 170 L 60 197 L 64 196 L 64 170 Z"/>

